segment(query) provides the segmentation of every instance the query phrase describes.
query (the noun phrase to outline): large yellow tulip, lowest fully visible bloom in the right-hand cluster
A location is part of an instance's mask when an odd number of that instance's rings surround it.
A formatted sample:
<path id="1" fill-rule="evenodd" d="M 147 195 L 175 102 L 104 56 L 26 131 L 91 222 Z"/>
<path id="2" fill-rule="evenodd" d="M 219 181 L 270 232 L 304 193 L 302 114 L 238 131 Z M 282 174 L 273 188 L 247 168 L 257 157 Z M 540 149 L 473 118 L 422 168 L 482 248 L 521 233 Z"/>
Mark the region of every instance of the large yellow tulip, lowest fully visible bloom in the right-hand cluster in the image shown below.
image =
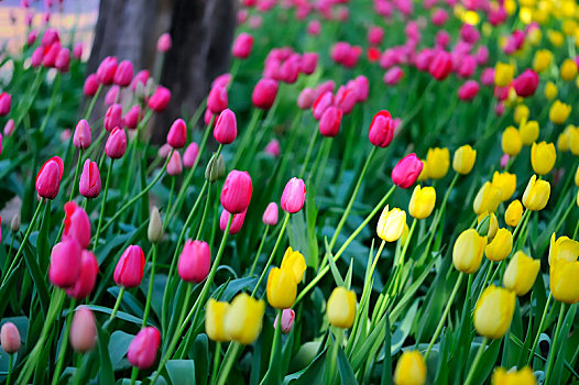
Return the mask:
<path id="1" fill-rule="evenodd" d="M 491 285 L 482 292 L 474 308 L 477 332 L 491 339 L 503 337 L 513 319 L 516 296 L 513 292 Z"/>

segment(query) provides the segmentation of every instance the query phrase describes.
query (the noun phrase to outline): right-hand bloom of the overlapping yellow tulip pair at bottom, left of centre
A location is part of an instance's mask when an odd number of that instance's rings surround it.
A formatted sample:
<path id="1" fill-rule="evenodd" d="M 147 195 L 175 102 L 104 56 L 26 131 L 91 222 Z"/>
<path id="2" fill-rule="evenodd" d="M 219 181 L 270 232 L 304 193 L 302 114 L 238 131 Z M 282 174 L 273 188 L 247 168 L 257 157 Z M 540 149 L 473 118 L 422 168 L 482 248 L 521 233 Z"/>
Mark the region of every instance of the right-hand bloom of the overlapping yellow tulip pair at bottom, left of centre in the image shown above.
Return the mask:
<path id="1" fill-rule="evenodd" d="M 225 317 L 225 331 L 229 338 L 242 344 L 258 339 L 263 323 L 265 302 L 241 293 L 233 298 Z"/>

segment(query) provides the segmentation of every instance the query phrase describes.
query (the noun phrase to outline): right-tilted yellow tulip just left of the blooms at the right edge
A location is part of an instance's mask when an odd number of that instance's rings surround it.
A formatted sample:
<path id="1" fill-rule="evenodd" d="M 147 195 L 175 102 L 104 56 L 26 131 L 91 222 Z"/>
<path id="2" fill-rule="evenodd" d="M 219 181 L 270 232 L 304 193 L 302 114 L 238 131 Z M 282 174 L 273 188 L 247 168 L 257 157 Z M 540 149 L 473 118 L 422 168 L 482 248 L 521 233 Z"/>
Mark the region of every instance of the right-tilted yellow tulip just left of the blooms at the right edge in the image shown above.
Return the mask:
<path id="1" fill-rule="evenodd" d="M 540 260 L 533 260 L 522 251 L 517 251 L 506 266 L 503 285 L 517 296 L 524 296 L 533 287 L 539 268 Z"/>

